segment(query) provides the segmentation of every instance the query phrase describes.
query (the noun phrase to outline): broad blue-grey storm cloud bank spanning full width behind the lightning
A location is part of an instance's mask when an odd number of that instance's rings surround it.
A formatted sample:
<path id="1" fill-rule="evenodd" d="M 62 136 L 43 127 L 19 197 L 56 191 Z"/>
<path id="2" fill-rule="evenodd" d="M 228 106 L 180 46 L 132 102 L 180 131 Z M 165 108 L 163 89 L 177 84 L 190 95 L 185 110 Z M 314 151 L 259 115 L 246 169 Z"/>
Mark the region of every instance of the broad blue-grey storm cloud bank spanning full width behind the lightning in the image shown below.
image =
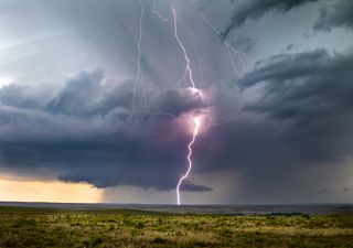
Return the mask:
<path id="1" fill-rule="evenodd" d="M 190 89 L 138 91 L 150 104 L 136 111 L 133 84 L 109 82 L 100 71 L 79 73 L 57 89 L 10 85 L 0 90 L 1 164 L 44 168 L 97 187 L 172 190 L 190 141 L 180 120 L 210 107 L 216 123 L 195 143 L 194 172 L 237 169 L 244 194 L 278 191 L 293 176 L 288 171 L 352 155 L 351 65 L 351 54 L 325 50 L 280 54 L 258 62 L 237 87 L 215 86 L 207 106 Z M 260 97 L 244 101 L 254 87 Z"/>

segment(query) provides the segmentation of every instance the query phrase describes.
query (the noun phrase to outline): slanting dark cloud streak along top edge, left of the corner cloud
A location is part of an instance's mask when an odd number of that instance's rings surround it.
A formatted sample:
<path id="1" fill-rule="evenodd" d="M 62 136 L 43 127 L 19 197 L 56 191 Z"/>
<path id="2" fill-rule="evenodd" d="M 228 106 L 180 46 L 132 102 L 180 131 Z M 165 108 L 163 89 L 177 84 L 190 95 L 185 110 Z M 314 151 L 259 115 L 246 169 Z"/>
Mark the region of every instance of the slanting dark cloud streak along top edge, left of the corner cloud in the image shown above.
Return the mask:
<path id="1" fill-rule="evenodd" d="M 315 2 L 319 0 L 247 0 L 240 1 L 227 24 L 225 31 L 222 33 L 223 39 L 226 39 L 234 28 L 239 28 L 247 20 L 257 20 L 267 12 L 288 12 L 308 2 Z"/>

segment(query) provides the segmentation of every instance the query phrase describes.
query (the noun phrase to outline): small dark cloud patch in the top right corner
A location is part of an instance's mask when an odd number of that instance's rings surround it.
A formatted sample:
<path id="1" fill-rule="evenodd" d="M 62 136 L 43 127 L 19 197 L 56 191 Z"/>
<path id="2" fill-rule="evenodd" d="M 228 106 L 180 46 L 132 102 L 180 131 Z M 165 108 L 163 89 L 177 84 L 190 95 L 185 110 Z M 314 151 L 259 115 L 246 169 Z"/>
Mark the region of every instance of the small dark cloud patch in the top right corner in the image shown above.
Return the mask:
<path id="1" fill-rule="evenodd" d="M 331 31 L 334 28 L 353 28 L 353 2 L 351 0 L 336 0 L 320 11 L 314 30 Z"/>

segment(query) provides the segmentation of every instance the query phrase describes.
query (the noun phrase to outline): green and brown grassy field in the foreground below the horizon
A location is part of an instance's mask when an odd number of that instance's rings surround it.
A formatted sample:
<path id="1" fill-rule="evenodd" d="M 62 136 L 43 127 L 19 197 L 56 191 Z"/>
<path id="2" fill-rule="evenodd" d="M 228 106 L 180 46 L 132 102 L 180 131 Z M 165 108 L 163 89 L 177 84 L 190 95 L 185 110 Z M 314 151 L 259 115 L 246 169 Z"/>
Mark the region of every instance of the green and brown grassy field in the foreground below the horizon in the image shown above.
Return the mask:
<path id="1" fill-rule="evenodd" d="M 353 215 L 0 207 L 0 247 L 353 247 Z"/>

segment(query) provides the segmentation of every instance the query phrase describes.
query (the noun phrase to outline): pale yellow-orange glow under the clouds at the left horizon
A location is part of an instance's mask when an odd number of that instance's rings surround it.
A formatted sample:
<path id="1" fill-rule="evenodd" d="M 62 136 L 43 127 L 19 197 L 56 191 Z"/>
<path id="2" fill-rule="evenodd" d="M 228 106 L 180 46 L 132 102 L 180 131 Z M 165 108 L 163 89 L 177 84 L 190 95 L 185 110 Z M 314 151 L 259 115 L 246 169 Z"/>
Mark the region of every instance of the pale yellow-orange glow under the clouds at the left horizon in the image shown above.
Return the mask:
<path id="1" fill-rule="evenodd" d="M 99 203 L 103 191 L 86 183 L 0 176 L 0 201 Z"/>

